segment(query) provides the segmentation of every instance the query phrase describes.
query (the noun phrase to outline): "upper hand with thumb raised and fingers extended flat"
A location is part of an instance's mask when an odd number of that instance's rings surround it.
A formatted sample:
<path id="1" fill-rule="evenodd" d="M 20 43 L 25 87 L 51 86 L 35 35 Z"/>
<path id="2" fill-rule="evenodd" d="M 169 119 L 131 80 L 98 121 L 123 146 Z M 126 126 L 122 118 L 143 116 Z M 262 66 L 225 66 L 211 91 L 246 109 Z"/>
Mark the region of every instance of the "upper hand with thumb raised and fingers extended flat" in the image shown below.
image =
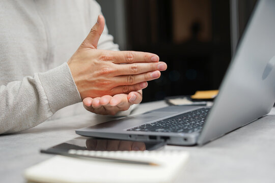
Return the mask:
<path id="1" fill-rule="evenodd" d="M 159 71 L 167 69 L 165 63 L 158 62 L 156 54 L 98 50 L 103 29 L 104 18 L 99 15 L 87 38 L 68 61 L 82 100 L 143 89 L 147 87 L 146 81 L 159 78 Z"/>

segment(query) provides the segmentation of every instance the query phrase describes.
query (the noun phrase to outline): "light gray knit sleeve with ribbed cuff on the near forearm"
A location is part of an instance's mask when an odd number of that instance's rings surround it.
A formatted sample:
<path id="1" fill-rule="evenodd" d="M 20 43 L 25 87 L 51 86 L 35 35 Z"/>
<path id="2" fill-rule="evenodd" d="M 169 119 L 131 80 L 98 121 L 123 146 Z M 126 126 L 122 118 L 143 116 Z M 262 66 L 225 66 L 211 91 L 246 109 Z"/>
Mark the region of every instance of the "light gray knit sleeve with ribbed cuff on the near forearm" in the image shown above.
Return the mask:
<path id="1" fill-rule="evenodd" d="M 32 128 L 81 102 L 67 64 L 0 86 L 0 134 Z"/>

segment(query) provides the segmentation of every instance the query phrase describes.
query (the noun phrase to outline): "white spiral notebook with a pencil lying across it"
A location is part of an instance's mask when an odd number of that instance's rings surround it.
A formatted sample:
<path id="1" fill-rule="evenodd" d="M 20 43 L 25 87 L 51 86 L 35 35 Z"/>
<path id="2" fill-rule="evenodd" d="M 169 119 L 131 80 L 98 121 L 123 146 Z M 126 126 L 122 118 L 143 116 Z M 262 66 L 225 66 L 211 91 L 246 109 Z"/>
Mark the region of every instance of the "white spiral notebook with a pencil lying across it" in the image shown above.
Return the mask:
<path id="1" fill-rule="evenodd" d="M 25 170 L 32 182 L 173 182 L 186 151 L 92 151 L 93 156 L 147 161 L 159 166 L 54 156 Z"/>

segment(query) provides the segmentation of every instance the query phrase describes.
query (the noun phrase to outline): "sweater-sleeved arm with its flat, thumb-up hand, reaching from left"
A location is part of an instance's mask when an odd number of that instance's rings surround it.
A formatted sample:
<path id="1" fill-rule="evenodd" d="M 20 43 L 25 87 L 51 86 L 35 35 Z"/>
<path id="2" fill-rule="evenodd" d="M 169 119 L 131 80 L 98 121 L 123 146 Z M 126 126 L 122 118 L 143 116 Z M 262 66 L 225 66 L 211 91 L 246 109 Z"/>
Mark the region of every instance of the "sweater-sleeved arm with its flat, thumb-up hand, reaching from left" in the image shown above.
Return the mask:
<path id="1" fill-rule="evenodd" d="M 160 76 L 155 71 L 158 60 L 152 62 L 155 54 L 96 49 L 103 28 L 104 19 L 99 16 L 68 63 L 0 87 L 0 133 L 34 127 L 57 110 L 86 97 L 143 89 L 147 86 L 143 83 Z"/>

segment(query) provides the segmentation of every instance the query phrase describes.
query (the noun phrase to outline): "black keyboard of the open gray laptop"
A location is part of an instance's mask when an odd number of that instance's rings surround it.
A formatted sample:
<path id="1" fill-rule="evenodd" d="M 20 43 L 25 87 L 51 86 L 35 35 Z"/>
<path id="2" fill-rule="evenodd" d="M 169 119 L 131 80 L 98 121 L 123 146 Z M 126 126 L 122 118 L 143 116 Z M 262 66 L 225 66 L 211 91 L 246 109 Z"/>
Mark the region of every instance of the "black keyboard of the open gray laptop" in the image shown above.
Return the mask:
<path id="1" fill-rule="evenodd" d="M 192 133 L 195 131 L 201 131 L 209 110 L 209 108 L 197 109 L 167 119 L 156 121 L 151 124 L 144 124 L 138 127 L 134 127 L 128 129 L 127 131 L 175 133 Z"/>

